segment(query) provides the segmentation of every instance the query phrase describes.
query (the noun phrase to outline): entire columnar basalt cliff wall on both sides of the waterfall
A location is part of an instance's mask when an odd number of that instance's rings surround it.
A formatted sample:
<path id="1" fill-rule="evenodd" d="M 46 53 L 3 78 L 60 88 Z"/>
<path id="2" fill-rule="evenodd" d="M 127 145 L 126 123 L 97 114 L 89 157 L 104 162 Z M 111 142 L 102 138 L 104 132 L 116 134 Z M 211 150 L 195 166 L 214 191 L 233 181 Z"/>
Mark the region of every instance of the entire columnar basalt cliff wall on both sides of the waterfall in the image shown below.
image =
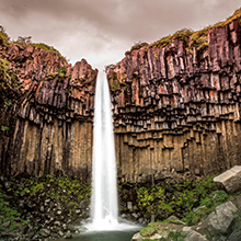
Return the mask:
<path id="1" fill-rule="evenodd" d="M 241 164 L 238 13 L 136 45 L 106 68 L 119 182 Z M 91 180 L 96 76 L 84 59 L 71 67 L 53 47 L 0 38 L 0 173 Z"/>

